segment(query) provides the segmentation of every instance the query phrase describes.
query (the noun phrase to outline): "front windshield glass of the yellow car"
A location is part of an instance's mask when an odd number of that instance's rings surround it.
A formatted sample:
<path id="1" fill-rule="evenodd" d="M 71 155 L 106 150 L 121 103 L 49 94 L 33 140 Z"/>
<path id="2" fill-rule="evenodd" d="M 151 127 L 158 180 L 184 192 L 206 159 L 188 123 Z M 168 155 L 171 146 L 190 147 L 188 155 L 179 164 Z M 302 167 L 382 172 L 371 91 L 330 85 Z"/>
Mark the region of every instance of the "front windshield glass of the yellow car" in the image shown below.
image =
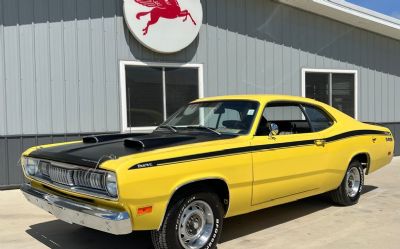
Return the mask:
<path id="1" fill-rule="evenodd" d="M 160 127 L 213 130 L 222 134 L 247 134 L 257 113 L 254 101 L 210 101 L 192 103 L 172 115 Z"/>

